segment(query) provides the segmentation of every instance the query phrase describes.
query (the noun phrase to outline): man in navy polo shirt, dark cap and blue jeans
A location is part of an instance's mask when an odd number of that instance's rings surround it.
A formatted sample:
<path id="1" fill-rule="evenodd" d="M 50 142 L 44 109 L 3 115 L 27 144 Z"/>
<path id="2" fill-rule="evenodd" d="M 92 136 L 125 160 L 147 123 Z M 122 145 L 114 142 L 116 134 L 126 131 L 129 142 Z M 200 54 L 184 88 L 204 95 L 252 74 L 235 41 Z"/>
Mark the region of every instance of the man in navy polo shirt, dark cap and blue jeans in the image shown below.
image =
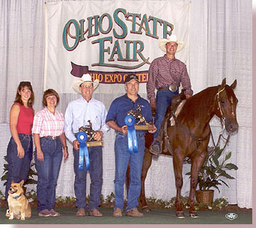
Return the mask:
<path id="1" fill-rule="evenodd" d="M 127 136 L 127 124 L 125 117 L 127 111 L 136 110 L 138 105 L 141 114 L 148 123 L 152 123 L 152 114 L 149 102 L 138 95 L 138 76 L 128 75 L 125 79 L 127 94 L 115 99 L 110 105 L 106 117 L 106 124 L 117 132 L 115 136 L 115 207 L 114 217 L 122 217 L 124 209 L 124 181 L 126 179 L 127 166 L 130 164 L 130 182 L 127 198 L 126 215 L 142 217 L 138 212 L 138 197 L 141 192 L 141 168 L 144 158 L 144 134 L 145 131 L 136 131 L 138 152 L 131 152 L 128 148 L 129 136 Z M 156 132 L 156 127 L 149 131 Z"/>

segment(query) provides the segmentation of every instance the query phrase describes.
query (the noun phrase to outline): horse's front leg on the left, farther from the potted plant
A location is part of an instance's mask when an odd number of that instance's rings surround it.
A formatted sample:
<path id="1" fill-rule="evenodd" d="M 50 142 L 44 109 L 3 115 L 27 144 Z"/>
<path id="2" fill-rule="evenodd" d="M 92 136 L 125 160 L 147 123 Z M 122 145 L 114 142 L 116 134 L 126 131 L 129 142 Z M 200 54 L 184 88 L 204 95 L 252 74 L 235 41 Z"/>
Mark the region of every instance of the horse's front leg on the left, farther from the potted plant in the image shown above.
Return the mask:
<path id="1" fill-rule="evenodd" d="M 177 152 L 177 150 L 174 152 L 173 162 L 174 162 L 175 185 L 177 189 L 176 200 L 175 200 L 176 216 L 177 218 L 185 218 L 185 214 L 183 212 L 183 207 L 180 200 L 180 193 L 183 185 L 183 176 L 182 176 L 183 156 L 180 155 L 180 153 Z"/>

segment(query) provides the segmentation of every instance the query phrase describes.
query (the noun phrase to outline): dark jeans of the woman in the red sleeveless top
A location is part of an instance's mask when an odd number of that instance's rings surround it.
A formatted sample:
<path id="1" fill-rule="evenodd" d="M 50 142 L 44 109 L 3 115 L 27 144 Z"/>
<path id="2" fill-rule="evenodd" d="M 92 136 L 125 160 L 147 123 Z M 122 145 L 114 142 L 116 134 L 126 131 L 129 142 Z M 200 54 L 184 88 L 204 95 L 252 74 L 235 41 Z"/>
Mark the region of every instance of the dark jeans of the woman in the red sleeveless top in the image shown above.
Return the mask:
<path id="1" fill-rule="evenodd" d="M 5 187 L 5 198 L 8 197 L 8 190 L 10 188 L 11 181 L 24 182 L 28 178 L 28 171 L 30 169 L 31 159 L 33 155 L 33 140 L 32 135 L 19 134 L 19 141 L 25 151 L 23 158 L 18 157 L 17 144 L 13 137 L 10 138 L 7 146 L 7 163 L 8 163 L 8 176 Z M 7 200 L 6 200 L 7 202 Z M 8 209 L 8 205 L 7 205 Z"/>

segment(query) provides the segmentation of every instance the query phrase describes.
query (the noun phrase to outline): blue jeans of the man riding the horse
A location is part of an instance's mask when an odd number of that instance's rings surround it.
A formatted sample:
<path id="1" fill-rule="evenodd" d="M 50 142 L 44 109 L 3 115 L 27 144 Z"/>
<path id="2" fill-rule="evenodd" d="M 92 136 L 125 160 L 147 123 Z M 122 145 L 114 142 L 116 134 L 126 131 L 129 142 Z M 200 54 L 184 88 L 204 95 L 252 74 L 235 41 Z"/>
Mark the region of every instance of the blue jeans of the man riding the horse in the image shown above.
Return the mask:
<path id="1" fill-rule="evenodd" d="M 162 121 L 165 119 L 165 113 L 169 105 L 171 105 L 172 96 L 179 94 L 179 90 L 172 92 L 171 90 L 158 90 L 156 93 L 156 117 L 155 126 L 156 132 L 153 134 L 153 138 L 156 138 Z"/>

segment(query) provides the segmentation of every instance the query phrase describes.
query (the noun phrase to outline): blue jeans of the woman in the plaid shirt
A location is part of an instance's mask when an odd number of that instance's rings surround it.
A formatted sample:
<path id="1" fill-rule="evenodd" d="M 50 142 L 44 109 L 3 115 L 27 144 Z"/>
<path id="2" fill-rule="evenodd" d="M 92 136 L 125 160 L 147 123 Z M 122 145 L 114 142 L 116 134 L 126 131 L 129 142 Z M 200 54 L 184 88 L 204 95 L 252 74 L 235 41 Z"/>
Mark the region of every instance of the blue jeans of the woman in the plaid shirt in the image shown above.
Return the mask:
<path id="1" fill-rule="evenodd" d="M 37 212 L 51 210 L 55 205 L 55 188 L 63 156 L 61 139 L 40 138 L 43 161 L 34 161 L 37 169 Z"/>

